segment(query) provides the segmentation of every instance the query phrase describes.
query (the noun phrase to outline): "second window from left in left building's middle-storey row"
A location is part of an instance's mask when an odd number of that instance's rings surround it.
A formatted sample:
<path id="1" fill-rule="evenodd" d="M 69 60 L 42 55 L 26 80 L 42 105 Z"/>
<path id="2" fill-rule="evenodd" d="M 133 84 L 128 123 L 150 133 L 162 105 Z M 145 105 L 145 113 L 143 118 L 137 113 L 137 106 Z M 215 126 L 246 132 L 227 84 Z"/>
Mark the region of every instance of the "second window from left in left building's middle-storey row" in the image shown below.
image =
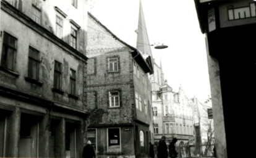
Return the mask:
<path id="1" fill-rule="evenodd" d="M 29 47 L 28 52 L 28 77 L 39 80 L 39 51 Z"/>

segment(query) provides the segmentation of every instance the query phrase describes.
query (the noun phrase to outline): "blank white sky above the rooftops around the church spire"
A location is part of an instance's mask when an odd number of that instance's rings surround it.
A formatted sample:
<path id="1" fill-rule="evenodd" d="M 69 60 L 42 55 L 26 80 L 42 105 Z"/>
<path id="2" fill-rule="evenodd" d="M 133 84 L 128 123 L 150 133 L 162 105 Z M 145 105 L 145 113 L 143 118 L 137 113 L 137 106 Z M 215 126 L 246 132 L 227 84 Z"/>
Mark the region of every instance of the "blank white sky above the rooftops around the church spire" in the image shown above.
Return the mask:
<path id="1" fill-rule="evenodd" d="M 136 47 L 139 0 L 92 0 L 89 11 L 122 41 Z M 210 95 L 205 35 L 200 31 L 194 0 L 142 0 L 153 58 L 163 65 L 174 90 L 182 85 L 189 98 Z"/>

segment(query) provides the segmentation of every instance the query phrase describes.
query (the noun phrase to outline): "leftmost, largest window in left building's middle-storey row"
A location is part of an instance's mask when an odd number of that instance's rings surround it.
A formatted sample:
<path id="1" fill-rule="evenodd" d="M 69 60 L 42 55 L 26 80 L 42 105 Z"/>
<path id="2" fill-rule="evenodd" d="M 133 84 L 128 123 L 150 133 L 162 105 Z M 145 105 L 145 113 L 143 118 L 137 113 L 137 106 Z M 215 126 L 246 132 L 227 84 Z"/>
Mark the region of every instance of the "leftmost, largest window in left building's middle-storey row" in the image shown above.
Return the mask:
<path id="1" fill-rule="evenodd" d="M 2 43 L 1 67 L 14 70 L 15 55 L 17 51 L 17 39 L 4 32 L 4 41 Z"/>

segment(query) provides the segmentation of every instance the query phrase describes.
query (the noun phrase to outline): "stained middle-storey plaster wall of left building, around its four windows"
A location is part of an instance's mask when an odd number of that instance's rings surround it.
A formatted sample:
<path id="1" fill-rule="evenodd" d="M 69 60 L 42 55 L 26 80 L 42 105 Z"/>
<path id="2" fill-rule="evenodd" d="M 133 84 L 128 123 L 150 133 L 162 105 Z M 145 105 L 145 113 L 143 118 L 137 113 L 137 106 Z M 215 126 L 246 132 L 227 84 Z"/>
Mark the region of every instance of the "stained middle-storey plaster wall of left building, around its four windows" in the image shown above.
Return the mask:
<path id="1" fill-rule="evenodd" d="M 9 22 L 4 22 L 4 19 L 8 19 Z M 1 27 L 4 28 L 3 31 L 6 31 L 7 33 L 17 38 L 15 72 L 19 74 L 19 77 L 15 78 L 7 73 L 0 72 L 0 84 L 13 89 L 19 89 L 20 91 L 39 96 L 40 98 L 62 102 L 69 106 L 76 105 L 77 107 L 82 108 L 83 61 L 70 55 L 70 53 L 64 51 L 61 46 L 57 46 L 52 41 L 44 38 L 36 31 L 28 28 L 26 25 L 23 25 L 23 23 L 19 22 L 19 20 L 14 19 L 14 17 L 7 14 L 6 12 L 1 12 Z M 1 51 L 2 43 L 0 45 Z M 43 86 L 41 87 L 29 83 L 24 79 L 24 77 L 27 77 L 28 73 L 27 67 L 29 46 L 32 46 L 33 48 L 40 51 L 41 62 L 39 69 L 39 80 L 43 83 Z M 58 60 L 62 63 L 61 89 L 64 91 L 64 95 L 56 94 L 51 91 L 53 88 L 54 78 L 54 60 Z M 77 72 L 77 96 L 79 96 L 77 101 L 67 97 L 67 94 L 70 93 L 70 69 L 74 69 Z"/>

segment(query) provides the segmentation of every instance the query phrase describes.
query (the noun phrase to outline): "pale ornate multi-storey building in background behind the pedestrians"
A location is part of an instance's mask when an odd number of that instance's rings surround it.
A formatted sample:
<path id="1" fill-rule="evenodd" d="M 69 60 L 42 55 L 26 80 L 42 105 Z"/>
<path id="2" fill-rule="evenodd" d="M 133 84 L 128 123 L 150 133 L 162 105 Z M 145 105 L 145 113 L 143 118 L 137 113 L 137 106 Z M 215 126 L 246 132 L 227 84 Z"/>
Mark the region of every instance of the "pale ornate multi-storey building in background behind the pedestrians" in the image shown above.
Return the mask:
<path id="1" fill-rule="evenodd" d="M 151 76 L 151 87 L 155 144 L 162 135 L 166 136 L 168 143 L 174 137 L 178 139 L 178 144 L 194 140 L 194 102 L 187 98 L 182 87 L 176 93 L 164 81 L 161 64 L 154 65 L 154 72 Z"/>

